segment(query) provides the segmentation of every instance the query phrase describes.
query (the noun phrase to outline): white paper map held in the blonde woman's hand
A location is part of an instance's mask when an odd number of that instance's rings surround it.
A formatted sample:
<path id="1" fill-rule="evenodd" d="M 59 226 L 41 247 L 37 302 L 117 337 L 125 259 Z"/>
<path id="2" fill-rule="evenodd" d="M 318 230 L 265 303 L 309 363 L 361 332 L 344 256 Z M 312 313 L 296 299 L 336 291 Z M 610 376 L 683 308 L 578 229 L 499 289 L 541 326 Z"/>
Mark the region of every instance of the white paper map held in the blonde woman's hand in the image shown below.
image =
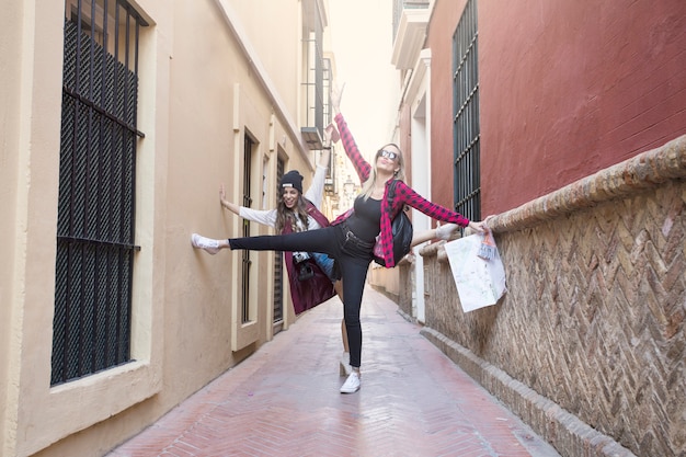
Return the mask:
<path id="1" fill-rule="evenodd" d="M 505 269 L 498 248 L 491 247 L 490 259 L 479 256 L 484 241 L 484 235 L 476 233 L 445 244 L 464 312 L 495 305 L 506 290 Z"/>

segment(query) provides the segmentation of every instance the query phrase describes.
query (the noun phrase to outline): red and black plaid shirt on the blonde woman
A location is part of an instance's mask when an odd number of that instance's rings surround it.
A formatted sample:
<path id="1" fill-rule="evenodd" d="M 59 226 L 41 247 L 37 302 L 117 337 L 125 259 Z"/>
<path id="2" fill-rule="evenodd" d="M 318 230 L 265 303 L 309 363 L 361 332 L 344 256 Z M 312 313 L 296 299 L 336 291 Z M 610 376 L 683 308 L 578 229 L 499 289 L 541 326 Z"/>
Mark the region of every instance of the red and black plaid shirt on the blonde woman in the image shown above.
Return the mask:
<path id="1" fill-rule="evenodd" d="M 339 126 L 339 132 L 341 133 L 341 141 L 343 142 L 343 148 L 345 149 L 345 153 L 353 162 L 355 170 L 357 170 L 357 174 L 359 175 L 361 182 L 367 181 L 369 179 L 369 173 L 371 172 L 371 165 L 369 162 L 362 157 L 359 153 L 359 149 L 357 149 L 357 145 L 355 144 L 355 139 L 347 128 L 347 124 L 345 119 L 343 119 L 342 114 L 338 114 L 335 116 L 335 122 Z M 381 201 L 381 249 L 384 251 L 384 261 L 386 262 L 386 267 L 391 269 L 396 266 L 396 259 L 393 259 L 393 232 L 391 229 L 391 221 L 393 217 L 400 212 L 405 205 L 412 206 L 413 208 L 424 213 L 426 216 L 436 219 L 443 220 L 445 222 L 454 222 L 460 227 L 467 227 L 469 225 L 469 219 L 462 216 L 459 213 L 455 213 L 448 208 L 445 208 L 441 205 L 436 205 L 414 192 L 412 187 L 399 181 L 396 185 L 396 196 L 393 197 L 393 206 L 392 208 L 388 207 L 388 185 L 390 184 L 390 180 L 386 182 L 386 190 L 384 191 L 384 199 Z M 339 216 L 331 225 L 335 226 L 341 224 L 348 214 L 343 214 Z"/>

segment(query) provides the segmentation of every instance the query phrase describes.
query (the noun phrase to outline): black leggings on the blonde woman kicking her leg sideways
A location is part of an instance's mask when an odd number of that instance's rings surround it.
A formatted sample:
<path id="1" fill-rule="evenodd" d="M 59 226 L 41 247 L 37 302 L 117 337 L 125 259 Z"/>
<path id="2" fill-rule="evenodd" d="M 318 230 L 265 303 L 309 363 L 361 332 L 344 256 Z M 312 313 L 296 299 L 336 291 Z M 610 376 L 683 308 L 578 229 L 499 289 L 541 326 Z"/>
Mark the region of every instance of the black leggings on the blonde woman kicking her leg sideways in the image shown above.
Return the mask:
<path id="1" fill-rule="evenodd" d="M 344 224 L 297 233 L 229 238 L 228 241 L 232 250 L 323 252 L 335 259 L 343 279 L 343 317 L 351 351 L 350 363 L 356 368 L 361 366 L 359 309 L 373 245 L 351 238 Z"/>

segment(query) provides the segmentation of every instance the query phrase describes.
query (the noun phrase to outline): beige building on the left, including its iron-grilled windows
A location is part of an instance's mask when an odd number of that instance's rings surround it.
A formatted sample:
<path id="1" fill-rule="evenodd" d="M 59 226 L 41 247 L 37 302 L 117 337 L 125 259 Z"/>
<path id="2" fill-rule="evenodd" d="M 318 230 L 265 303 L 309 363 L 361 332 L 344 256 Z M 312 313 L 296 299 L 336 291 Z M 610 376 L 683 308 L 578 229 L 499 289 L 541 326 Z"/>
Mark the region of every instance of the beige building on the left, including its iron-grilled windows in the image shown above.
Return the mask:
<path id="1" fill-rule="evenodd" d="M 190 237 L 270 232 L 221 183 L 253 208 L 308 185 L 327 4 L 2 7 L 0 454 L 104 455 L 295 321 L 281 255 Z"/>

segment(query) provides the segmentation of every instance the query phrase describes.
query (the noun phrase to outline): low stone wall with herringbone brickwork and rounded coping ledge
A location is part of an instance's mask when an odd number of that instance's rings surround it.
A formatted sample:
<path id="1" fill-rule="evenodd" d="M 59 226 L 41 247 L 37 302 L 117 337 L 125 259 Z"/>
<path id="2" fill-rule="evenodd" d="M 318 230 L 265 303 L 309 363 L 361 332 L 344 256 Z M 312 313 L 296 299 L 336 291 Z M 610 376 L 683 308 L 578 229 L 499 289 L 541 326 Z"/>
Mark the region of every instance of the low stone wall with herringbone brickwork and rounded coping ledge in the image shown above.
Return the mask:
<path id="1" fill-rule="evenodd" d="M 686 455 L 685 178 L 686 136 L 496 215 L 507 293 L 470 313 L 424 248 L 423 334 L 562 455 Z"/>

